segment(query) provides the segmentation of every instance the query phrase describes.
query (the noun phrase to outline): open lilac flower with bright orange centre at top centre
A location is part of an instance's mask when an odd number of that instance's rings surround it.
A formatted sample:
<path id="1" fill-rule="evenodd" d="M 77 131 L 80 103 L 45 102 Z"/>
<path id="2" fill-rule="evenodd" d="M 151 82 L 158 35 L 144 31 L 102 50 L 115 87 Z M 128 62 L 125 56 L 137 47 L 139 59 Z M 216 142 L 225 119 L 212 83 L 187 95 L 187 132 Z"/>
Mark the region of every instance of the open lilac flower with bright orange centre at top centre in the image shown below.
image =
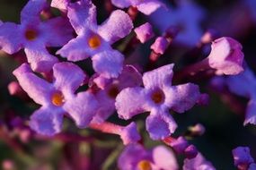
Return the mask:
<path id="1" fill-rule="evenodd" d="M 81 0 L 69 4 L 67 17 L 78 36 L 58 50 L 57 54 L 70 61 L 80 61 L 92 56 L 95 72 L 106 78 L 118 77 L 124 57 L 110 45 L 127 36 L 133 28 L 128 14 L 116 10 L 98 26 L 95 6 L 90 0 Z"/>

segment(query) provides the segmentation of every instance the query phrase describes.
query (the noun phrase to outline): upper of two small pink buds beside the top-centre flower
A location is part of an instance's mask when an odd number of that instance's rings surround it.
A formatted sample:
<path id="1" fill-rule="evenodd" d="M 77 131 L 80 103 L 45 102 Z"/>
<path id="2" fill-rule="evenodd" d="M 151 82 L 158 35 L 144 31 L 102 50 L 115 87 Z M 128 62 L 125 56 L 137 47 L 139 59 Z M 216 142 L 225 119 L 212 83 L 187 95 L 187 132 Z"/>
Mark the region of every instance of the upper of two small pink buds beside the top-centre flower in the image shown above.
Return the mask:
<path id="1" fill-rule="evenodd" d="M 154 31 L 152 29 L 152 26 L 148 22 L 137 27 L 134 31 L 137 35 L 137 39 L 141 43 L 145 43 L 148 39 L 154 37 Z"/>

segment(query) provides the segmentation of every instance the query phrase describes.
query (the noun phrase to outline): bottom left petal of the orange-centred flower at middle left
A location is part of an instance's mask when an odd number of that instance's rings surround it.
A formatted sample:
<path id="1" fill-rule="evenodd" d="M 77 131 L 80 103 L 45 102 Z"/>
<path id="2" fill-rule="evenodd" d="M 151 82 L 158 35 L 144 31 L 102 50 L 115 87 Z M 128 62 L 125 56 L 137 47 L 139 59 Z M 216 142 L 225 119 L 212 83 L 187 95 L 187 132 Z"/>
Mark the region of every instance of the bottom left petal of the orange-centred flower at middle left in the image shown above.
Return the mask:
<path id="1" fill-rule="evenodd" d="M 61 132 L 63 112 L 61 109 L 40 107 L 31 115 L 30 126 L 35 132 L 42 135 L 53 136 Z"/>

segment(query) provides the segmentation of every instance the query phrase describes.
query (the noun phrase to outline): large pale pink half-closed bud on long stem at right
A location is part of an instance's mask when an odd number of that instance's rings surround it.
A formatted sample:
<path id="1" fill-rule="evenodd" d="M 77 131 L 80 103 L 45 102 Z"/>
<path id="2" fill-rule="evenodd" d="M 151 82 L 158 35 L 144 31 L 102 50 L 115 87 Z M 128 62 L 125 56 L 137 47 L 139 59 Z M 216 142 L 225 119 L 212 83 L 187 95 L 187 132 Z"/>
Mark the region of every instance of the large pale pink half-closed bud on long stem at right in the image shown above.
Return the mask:
<path id="1" fill-rule="evenodd" d="M 218 74 L 235 75 L 243 72 L 243 52 L 238 41 L 218 38 L 213 41 L 211 48 L 208 63 Z"/>

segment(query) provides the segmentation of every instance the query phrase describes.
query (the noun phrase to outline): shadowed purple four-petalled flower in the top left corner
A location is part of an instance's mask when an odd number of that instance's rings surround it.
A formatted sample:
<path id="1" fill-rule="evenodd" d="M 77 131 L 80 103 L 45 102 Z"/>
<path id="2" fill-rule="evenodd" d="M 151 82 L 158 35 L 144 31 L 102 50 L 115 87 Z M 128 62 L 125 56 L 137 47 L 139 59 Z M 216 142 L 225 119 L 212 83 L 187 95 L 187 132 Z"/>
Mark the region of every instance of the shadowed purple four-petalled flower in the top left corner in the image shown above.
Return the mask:
<path id="1" fill-rule="evenodd" d="M 66 19 L 40 21 L 40 12 L 46 6 L 46 0 L 30 0 L 22 9 L 21 24 L 4 22 L 0 26 L 2 50 L 12 55 L 24 48 L 32 70 L 37 72 L 49 72 L 57 63 L 46 47 L 61 47 L 72 38 L 72 28 Z"/>

